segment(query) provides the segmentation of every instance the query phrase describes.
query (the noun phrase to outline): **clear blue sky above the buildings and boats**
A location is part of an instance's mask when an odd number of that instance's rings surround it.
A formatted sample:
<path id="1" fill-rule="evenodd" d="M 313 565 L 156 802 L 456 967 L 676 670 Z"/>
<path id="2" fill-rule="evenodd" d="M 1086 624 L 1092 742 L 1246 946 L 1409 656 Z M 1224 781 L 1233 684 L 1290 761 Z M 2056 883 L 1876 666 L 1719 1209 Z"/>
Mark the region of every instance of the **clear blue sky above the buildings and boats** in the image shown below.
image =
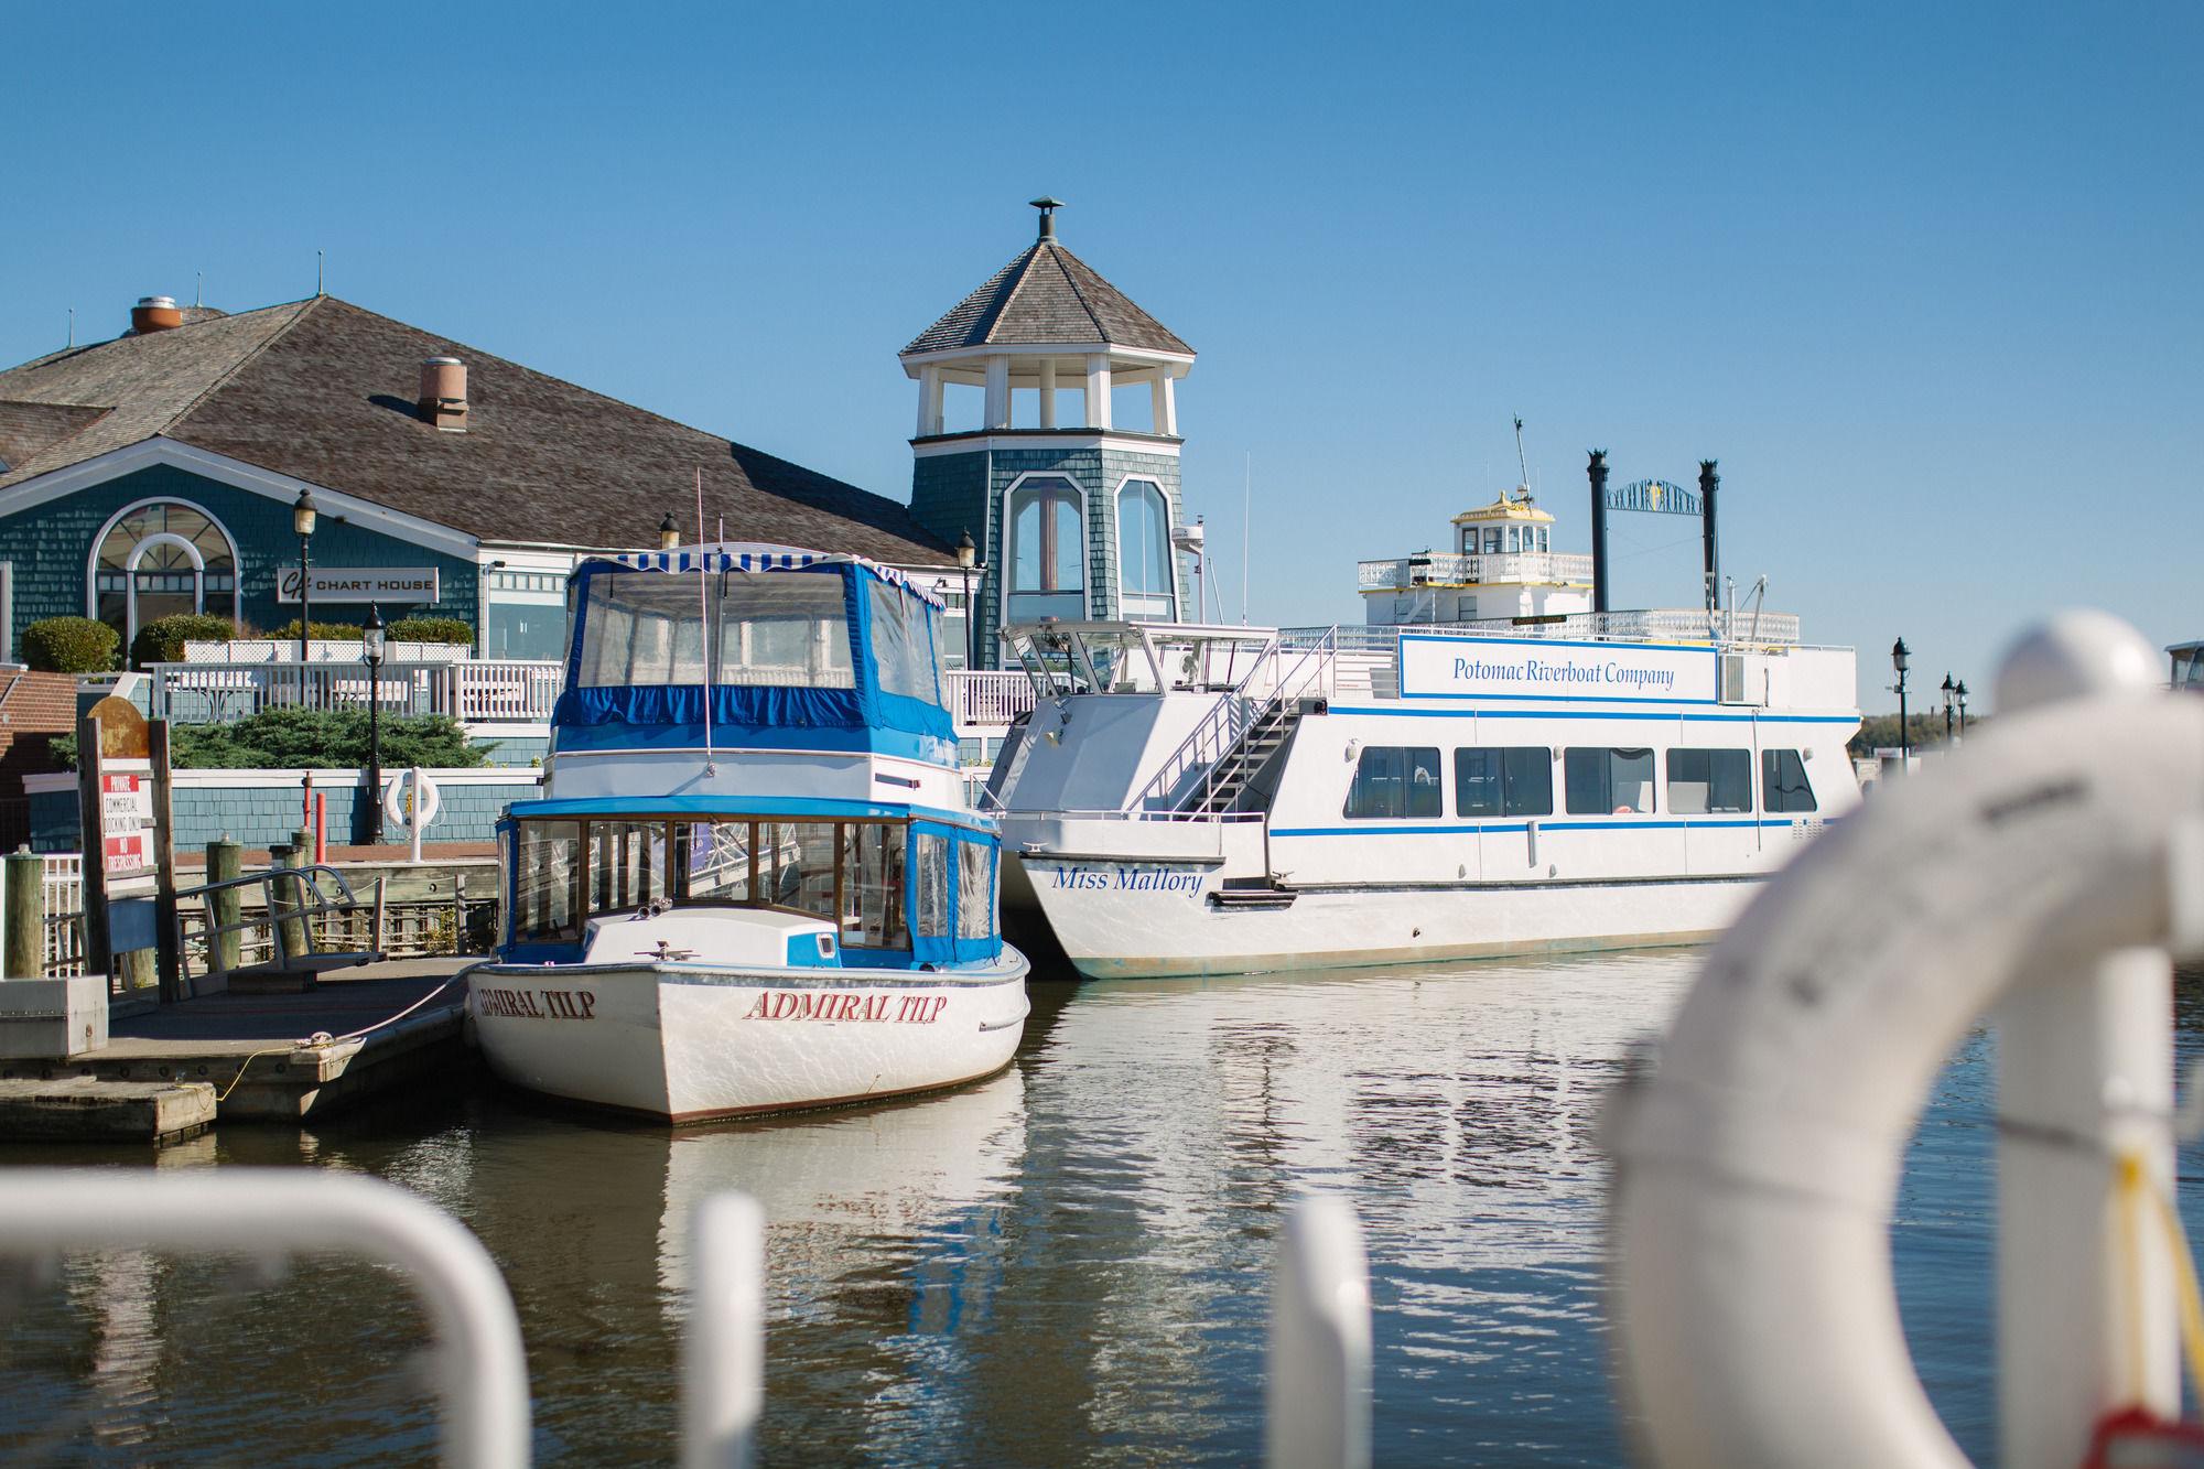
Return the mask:
<path id="1" fill-rule="evenodd" d="M 1724 560 L 1889 708 L 2030 618 L 2204 635 L 2204 9 L 20 7 L 0 360 L 141 293 L 328 289 L 882 494 L 895 351 L 1069 201 L 1201 353 L 1186 485 L 1254 620 L 1360 620 L 1527 421 L 1724 472 Z M 679 487 L 670 487 L 670 494 Z M 1697 596 L 1613 523 L 1616 604 Z"/>

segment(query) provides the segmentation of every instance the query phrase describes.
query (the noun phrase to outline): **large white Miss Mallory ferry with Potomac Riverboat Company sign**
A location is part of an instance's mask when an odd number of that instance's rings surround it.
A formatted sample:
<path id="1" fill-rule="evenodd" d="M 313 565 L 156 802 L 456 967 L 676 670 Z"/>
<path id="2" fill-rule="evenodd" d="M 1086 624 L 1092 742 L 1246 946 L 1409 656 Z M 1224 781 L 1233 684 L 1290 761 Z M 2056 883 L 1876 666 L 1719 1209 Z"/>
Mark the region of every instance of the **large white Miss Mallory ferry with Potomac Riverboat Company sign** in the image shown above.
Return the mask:
<path id="1" fill-rule="evenodd" d="M 1523 492 L 1362 565 L 1366 626 L 1038 622 L 990 781 L 1005 904 L 1082 975 L 1706 940 L 1858 783 L 1849 648 L 1578 611 Z M 1402 624 L 1404 613 L 1422 613 Z"/>

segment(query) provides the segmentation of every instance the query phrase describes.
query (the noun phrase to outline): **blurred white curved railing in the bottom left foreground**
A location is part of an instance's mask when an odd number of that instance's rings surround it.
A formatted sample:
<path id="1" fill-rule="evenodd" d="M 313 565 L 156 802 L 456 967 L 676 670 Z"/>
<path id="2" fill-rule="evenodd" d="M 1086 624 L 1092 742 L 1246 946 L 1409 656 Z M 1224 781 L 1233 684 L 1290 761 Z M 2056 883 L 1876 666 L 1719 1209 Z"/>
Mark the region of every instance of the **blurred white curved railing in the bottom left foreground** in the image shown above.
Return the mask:
<path id="1" fill-rule="evenodd" d="M 397 1184 L 306 1169 L 9 1169 L 0 1253 L 344 1251 L 397 1266 L 436 1334 L 445 1465 L 529 1462 L 529 1365 L 489 1251 Z"/>

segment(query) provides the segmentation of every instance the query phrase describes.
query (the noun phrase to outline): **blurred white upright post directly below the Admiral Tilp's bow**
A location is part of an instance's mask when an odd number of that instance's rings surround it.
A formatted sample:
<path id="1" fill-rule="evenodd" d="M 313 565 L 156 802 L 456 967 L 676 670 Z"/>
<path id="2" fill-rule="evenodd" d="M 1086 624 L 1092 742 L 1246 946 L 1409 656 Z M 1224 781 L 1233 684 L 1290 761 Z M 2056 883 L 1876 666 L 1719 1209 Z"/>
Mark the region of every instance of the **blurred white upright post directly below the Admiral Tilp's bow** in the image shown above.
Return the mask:
<path id="1" fill-rule="evenodd" d="M 765 1407 L 765 1211 L 712 1193 L 690 1215 L 690 1319 L 681 1352 L 683 1469 L 747 1469 Z"/>

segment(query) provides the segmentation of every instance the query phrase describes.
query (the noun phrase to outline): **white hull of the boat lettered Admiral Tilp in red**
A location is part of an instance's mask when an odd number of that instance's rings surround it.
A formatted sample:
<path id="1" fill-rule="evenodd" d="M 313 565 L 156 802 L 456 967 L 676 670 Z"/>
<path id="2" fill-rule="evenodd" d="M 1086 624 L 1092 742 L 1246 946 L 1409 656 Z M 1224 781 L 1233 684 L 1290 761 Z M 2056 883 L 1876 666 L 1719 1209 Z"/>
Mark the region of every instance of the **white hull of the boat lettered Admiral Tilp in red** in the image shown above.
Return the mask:
<path id="1" fill-rule="evenodd" d="M 701 1123 L 959 1085 L 1018 1050 L 1027 962 L 972 971 L 478 964 L 476 1037 L 505 1083 Z"/>

